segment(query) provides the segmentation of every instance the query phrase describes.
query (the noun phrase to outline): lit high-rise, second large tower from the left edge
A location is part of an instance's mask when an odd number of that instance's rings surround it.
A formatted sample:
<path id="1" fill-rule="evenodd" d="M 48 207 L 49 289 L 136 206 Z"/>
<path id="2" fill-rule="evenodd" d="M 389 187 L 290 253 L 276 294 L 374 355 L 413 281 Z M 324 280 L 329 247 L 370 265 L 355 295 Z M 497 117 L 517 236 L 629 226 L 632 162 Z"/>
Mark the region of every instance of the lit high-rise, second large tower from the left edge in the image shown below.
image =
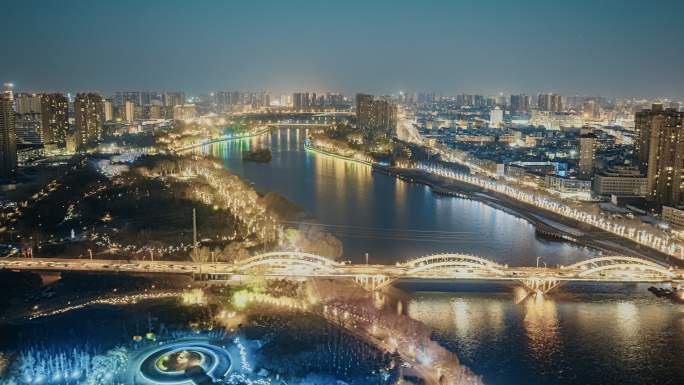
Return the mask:
<path id="1" fill-rule="evenodd" d="M 43 142 L 64 147 L 69 129 L 69 100 L 63 94 L 44 94 L 40 114 Z"/>

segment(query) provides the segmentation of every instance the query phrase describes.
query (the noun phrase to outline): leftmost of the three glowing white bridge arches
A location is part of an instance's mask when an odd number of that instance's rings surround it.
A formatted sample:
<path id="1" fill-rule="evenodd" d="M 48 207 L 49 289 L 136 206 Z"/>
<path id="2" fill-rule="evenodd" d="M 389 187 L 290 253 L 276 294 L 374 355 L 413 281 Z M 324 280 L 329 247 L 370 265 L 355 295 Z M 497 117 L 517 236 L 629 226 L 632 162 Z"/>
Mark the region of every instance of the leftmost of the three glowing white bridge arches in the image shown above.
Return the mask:
<path id="1" fill-rule="evenodd" d="M 275 251 L 255 255 L 237 261 L 237 272 L 246 273 L 260 270 L 273 275 L 293 275 L 308 273 L 310 275 L 325 275 L 336 271 L 340 263 L 320 255 L 302 253 L 298 251 Z"/>

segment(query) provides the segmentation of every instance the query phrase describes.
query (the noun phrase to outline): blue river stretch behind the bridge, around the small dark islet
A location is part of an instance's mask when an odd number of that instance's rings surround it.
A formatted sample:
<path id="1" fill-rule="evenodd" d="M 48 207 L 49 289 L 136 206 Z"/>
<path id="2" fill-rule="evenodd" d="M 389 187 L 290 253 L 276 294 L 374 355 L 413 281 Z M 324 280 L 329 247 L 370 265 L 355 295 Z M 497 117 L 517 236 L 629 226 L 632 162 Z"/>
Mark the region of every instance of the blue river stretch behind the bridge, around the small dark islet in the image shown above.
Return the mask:
<path id="1" fill-rule="evenodd" d="M 575 245 L 537 238 L 533 226 L 476 201 L 435 196 L 431 189 L 372 172 L 368 166 L 311 153 L 307 130 L 281 129 L 258 137 L 207 145 L 231 171 L 275 191 L 329 225 L 346 259 L 394 263 L 435 252 L 458 251 L 501 263 L 570 264 L 594 255 Z M 241 153 L 270 147 L 270 163 L 242 162 Z"/>

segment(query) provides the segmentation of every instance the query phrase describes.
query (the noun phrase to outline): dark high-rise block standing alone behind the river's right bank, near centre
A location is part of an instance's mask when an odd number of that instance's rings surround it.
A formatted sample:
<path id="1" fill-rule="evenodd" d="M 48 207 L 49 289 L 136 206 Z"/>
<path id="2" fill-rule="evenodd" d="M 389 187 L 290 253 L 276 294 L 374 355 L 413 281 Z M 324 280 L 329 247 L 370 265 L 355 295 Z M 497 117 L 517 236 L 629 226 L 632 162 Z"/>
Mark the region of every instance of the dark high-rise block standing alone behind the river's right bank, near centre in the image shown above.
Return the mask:
<path id="1" fill-rule="evenodd" d="M 397 131 L 397 106 L 388 99 L 357 94 L 356 124 L 366 137 L 392 137 Z"/>

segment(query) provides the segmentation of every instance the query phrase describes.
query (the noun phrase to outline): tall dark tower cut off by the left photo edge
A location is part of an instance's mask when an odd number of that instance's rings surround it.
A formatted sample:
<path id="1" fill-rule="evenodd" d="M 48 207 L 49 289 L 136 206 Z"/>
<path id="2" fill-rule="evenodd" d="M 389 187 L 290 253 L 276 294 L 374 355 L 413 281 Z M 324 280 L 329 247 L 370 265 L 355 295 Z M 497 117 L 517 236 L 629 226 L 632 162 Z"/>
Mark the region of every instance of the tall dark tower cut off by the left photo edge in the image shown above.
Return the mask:
<path id="1" fill-rule="evenodd" d="M 6 84 L 0 95 L 0 177 L 11 177 L 17 168 L 17 133 L 15 131 L 14 95 Z"/>

